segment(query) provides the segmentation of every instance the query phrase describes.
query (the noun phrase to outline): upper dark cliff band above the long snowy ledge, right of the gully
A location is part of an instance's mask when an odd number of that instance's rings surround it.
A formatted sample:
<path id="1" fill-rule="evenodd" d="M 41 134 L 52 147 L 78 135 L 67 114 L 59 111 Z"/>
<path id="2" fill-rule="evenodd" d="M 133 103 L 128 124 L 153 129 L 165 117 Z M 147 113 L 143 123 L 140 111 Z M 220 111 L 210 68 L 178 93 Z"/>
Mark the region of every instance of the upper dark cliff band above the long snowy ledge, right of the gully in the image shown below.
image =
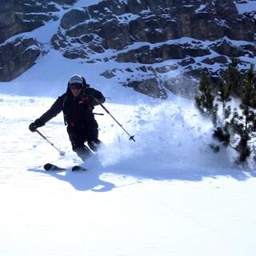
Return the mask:
<path id="1" fill-rule="evenodd" d="M 122 50 L 134 42 L 183 37 L 214 41 L 228 36 L 253 42 L 255 32 L 254 21 L 238 14 L 231 0 L 214 4 L 207 0 L 182 4 L 178 0 L 106 0 L 65 14 L 52 42 L 67 58 L 75 42 L 86 58 L 107 49 Z"/>

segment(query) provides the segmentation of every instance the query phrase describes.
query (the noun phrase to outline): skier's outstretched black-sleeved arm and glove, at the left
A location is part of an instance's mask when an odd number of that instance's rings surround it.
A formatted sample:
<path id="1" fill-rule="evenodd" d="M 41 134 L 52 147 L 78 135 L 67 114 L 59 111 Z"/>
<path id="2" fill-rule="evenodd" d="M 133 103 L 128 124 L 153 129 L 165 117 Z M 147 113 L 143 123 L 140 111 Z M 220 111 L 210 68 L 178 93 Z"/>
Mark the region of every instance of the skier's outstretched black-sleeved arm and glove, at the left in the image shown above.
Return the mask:
<path id="1" fill-rule="evenodd" d="M 54 102 L 50 109 L 46 111 L 45 114 L 42 114 L 40 118 L 36 119 L 30 124 L 29 129 L 34 132 L 38 129 L 38 127 L 44 126 L 46 122 L 50 121 L 51 118 L 54 118 L 62 111 L 62 106 L 63 98 L 58 97 L 58 99 Z"/>

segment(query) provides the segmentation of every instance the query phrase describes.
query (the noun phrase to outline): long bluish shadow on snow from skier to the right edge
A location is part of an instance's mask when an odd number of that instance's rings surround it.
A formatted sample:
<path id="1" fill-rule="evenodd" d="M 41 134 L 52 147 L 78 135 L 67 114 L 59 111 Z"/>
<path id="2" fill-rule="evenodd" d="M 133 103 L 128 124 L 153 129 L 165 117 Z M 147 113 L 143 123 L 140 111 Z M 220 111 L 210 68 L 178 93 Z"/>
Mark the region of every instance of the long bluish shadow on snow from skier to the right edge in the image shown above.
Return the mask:
<path id="1" fill-rule="evenodd" d="M 144 160 L 146 160 L 144 162 Z M 126 177 L 134 177 L 137 182 L 150 179 L 157 181 L 187 181 L 201 182 L 205 178 L 230 177 L 238 181 L 245 181 L 248 178 L 255 177 L 254 172 L 243 171 L 231 167 L 220 168 L 220 166 L 185 166 L 170 163 L 164 166 L 163 163 L 154 162 L 154 159 L 141 159 L 144 164 L 138 164 L 138 161 L 131 159 L 122 160 L 113 166 L 102 166 L 97 158 L 90 159 L 90 162 L 82 164 L 88 168 L 86 171 L 73 172 L 69 170 L 62 171 L 45 171 L 37 168 L 30 168 L 30 171 L 48 174 L 60 181 L 68 182 L 75 190 L 92 190 L 94 192 L 106 192 L 118 187 L 111 182 L 106 181 L 107 174 L 122 175 L 122 179 Z M 106 175 L 104 175 L 106 174 Z M 127 183 L 127 182 L 126 182 Z M 134 182 L 136 183 L 136 182 Z M 127 184 L 130 185 L 130 184 Z"/>

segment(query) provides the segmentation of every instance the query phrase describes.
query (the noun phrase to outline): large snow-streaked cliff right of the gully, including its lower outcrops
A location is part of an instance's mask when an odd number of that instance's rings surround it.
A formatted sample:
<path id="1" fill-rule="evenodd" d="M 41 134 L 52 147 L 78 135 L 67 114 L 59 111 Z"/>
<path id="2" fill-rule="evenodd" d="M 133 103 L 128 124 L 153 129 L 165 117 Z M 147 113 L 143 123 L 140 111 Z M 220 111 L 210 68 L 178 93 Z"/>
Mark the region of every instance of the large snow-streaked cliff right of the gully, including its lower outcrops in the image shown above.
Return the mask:
<path id="1" fill-rule="evenodd" d="M 170 81 L 166 74 L 174 69 L 163 66 L 175 65 L 166 62 L 177 60 L 189 77 L 200 73 L 200 62 L 208 65 L 217 62 L 225 68 L 230 58 L 255 56 L 255 34 L 254 18 L 238 14 L 232 0 L 106 0 L 66 13 L 52 44 L 66 58 L 90 59 L 94 54 L 114 50 L 114 55 L 105 58 L 105 62 L 114 59 L 145 65 L 137 69 L 141 75 L 129 81 L 129 86 L 150 96 L 165 98 L 163 87 L 185 95 L 190 84 L 186 76 Z M 190 40 L 184 42 L 186 40 L 179 38 Z M 237 46 L 230 39 L 248 43 Z M 160 63 L 162 68 L 153 67 Z M 135 70 L 123 71 L 129 76 Z M 157 74 L 161 77 L 155 78 Z M 118 76 L 116 70 L 106 70 L 102 75 Z M 177 90 L 181 81 L 187 85 L 186 89 Z"/>

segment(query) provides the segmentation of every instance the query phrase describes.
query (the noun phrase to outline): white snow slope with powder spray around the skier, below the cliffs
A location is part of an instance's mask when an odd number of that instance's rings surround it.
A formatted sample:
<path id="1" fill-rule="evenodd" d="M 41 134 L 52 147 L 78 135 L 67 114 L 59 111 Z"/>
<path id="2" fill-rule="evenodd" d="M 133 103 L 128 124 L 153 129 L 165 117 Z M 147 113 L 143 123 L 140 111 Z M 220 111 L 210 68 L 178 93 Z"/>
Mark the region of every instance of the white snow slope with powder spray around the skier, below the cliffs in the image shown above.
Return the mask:
<path id="1" fill-rule="evenodd" d="M 90 1 L 78 7 L 83 2 Z M 45 33 L 47 44 L 57 25 L 33 33 Z M 14 82 L 0 83 L 0 255 L 253 255 L 255 171 L 234 166 L 232 151 L 210 150 L 212 127 L 193 102 L 146 98 L 101 70 L 50 50 Z M 74 73 L 102 90 L 136 142 L 105 113 L 96 116 L 104 146 L 85 163 L 89 171 L 46 172 L 46 162 L 80 163 L 62 114 L 40 130 L 65 158 L 28 130 Z"/>

